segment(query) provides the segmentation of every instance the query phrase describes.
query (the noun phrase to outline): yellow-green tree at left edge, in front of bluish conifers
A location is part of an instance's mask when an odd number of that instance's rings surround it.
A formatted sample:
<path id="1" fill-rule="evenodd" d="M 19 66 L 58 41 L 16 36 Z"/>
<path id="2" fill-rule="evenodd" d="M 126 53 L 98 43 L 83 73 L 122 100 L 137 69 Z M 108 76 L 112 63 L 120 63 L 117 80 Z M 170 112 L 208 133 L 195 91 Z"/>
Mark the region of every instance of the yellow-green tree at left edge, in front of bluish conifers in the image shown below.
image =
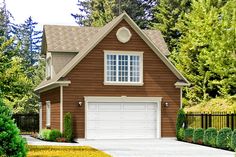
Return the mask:
<path id="1" fill-rule="evenodd" d="M 0 94 L 14 113 L 23 112 L 29 105 L 27 100 L 33 83 L 25 74 L 22 59 L 15 55 L 17 50 L 8 49 L 13 45 L 14 40 L 0 37 L 0 41 Z"/>

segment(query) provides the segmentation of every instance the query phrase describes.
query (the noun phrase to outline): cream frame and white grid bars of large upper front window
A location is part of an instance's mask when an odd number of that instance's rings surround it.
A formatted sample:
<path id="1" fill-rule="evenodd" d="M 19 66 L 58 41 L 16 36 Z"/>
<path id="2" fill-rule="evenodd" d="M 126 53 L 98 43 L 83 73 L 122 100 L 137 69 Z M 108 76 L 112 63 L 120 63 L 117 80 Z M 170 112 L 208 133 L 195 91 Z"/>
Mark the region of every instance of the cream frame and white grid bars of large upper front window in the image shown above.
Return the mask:
<path id="1" fill-rule="evenodd" d="M 107 81 L 107 55 L 137 55 L 140 58 L 139 63 L 139 82 L 120 82 L 118 81 L 118 74 L 116 75 L 116 81 Z M 130 66 L 130 61 L 128 60 L 128 66 Z M 116 65 L 118 67 L 118 63 Z M 130 67 L 128 68 L 130 69 Z M 118 71 L 117 71 L 118 73 Z M 130 79 L 130 74 L 128 73 L 128 80 Z M 104 85 L 131 85 L 131 86 L 143 86 L 143 52 L 142 51 L 114 51 L 105 50 L 104 51 Z"/>

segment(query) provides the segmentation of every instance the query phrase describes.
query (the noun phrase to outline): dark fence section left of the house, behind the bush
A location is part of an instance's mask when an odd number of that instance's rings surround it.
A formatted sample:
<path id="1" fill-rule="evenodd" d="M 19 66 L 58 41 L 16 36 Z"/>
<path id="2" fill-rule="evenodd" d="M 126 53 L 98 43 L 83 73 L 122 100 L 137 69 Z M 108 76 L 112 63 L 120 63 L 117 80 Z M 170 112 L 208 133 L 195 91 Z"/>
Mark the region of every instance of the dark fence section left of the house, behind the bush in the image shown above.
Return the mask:
<path id="1" fill-rule="evenodd" d="M 13 114 L 13 119 L 23 134 L 39 131 L 39 114 Z"/>

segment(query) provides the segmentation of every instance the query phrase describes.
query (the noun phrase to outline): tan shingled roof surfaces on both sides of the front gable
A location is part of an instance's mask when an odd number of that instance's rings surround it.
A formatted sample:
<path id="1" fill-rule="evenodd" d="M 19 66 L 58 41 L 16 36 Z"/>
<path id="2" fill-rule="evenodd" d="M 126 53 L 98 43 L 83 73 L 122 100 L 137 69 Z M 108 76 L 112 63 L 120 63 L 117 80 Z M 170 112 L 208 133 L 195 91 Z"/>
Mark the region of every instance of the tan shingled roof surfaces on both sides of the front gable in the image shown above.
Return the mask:
<path id="1" fill-rule="evenodd" d="M 44 41 L 48 52 L 81 52 L 102 27 L 45 25 Z M 159 30 L 142 30 L 165 55 L 170 52 Z M 46 48 L 42 49 L 46 53 Z"/>

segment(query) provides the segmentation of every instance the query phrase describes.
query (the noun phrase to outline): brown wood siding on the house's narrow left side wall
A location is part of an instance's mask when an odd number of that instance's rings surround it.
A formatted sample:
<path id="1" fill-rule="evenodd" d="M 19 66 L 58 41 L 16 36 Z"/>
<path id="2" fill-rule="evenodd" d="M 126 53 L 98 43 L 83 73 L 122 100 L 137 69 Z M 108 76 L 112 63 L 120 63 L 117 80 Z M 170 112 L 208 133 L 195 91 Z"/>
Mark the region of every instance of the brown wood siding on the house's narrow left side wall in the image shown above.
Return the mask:
<path id="1" fill-rule="evenodd" d="M 51 128 L 60 129 L 60 88 L 40 93 L 42 102 L 42 128 L 46 128 L 46 101 L 51 102 Z"/>

